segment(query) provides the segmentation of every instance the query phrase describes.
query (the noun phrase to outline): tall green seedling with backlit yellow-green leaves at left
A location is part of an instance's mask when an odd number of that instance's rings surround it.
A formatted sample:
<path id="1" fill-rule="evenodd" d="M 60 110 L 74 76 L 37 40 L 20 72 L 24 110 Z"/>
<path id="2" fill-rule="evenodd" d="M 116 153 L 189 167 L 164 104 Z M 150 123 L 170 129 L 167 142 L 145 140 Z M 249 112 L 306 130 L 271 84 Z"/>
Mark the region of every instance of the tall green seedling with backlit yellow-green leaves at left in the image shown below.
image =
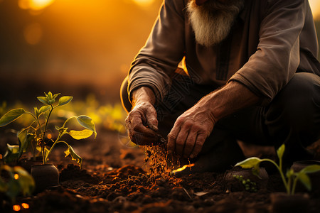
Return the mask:
<path id="1" fill-rule="evenodd" d="M 4 160 L 6 162 L 18 160 L 18 158 L 21 157 L 22 153 L 31 151 L 33 158 L 36 158 L 37 153 L 41 153 L 43 164 L 45 164 L 47 163 L 48 156 L 50 155 L 51 151 L 53 151 L 55 145 L 57 143 L 65 143 L 68 146 L 67 150 L 65 151 L 65 157 L 70 155 L 72 160 L 76 160 L 81 167 L 82 158 L 75 153 L 73 148 L 67 142 L 61 141 L 61 138 L 65 134 L 68 134 L 77 140 L 88 138 L 92 135 L 92 133 L 95 133 L 95 136 L 97 136 L 97 132 L 95 131 L 95 124 L 89 116 L 72 116 L 65 120 L 63 126 L 55 126 L 55 130 L 58 131 L 58 137 L 55 138 L 54 141 L 53 139 L 46 140 L 48 123 L 53 109 L 68 104 L 73 99 L 73 97 L 64 96 L 60 97 L 58 103 L 56 103 L 55 99 L 58 97 L 58 95 L 59 94 L 52 94 L 51 92 L 48 92 L 48 94 L 45 93 L 45 97 L 38 97 L 38 100 L 43 103 L 44 106 L 40 109 L 34 107 L 34 113 L 25 111 L 24 109 L 12 109 L 1 117 L 0 127 L 10 124 L 12 121 L 15 121 L 23 115 L 31 115 L 33 118 L 31 124 L 18 132 L 17 136 L 19 146 L 8 145 L 8 151 L 6 155 L 4 155 Z M 78 121 L 78 124 L 80 124 L 80 126 L 84 127 L 85 129 L 83 129 L 82 131 L 69 131 L 67 124 L 72 119 Z M 50 131 L 53 130 L 50 129 Z M 49 146 L 48 142 L 52 142 L 53 145 Z"/>

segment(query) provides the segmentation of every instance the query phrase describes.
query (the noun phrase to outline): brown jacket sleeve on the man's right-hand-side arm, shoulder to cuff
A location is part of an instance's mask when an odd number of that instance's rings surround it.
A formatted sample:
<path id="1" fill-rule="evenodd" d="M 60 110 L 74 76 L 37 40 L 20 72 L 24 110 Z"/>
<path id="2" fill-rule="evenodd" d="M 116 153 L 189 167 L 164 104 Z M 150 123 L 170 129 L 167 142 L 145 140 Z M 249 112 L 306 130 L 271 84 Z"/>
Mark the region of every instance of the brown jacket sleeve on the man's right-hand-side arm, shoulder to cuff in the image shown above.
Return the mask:
<path id="1" fill-rule="evenodd" d="M 289 82 L 299 66 L 299 35 L 304 27 L 306 0 L 268 0 L 257 51 L 230 78 L 262 97 L 262 105 Z"/>

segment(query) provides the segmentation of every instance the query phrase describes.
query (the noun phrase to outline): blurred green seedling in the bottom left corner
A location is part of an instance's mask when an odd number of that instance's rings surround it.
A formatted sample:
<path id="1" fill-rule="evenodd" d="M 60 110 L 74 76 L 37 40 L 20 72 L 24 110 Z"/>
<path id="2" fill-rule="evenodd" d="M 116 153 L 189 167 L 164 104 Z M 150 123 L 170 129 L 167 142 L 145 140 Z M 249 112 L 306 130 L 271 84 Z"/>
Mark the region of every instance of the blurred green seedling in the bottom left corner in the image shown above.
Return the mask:
<path id="1" fill-rule="evenodd" d="M 35 183 L 31 175 L 20 166 L 0 165 L 0 192 L 16 202 L 16 196 L 31 195 Z"/>

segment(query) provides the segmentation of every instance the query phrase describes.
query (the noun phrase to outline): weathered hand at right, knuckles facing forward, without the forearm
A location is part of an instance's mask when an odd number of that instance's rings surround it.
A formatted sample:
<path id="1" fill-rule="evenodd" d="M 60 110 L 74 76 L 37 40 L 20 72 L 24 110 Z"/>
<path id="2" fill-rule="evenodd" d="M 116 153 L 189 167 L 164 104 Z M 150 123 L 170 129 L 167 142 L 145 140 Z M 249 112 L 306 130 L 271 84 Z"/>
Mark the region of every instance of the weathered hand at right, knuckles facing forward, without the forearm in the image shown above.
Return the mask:
<path id="1" fill-rule="evenodd" d="M 195 158 L 215 125 L 213 114 L 202 102 L 178 117 L 168 135 L 168 151 L 184 158 Z"/>

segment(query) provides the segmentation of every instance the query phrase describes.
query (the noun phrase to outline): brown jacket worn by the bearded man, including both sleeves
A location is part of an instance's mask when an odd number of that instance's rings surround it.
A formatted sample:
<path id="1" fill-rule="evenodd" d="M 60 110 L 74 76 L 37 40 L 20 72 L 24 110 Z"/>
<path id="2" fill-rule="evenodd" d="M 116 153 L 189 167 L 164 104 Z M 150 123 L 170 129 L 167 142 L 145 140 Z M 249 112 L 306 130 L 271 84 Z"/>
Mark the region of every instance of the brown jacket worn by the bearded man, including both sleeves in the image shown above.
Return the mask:
<path id="1" fill-rule="evenodd" d="M 188 0 L 165 0 L 146 45 L 129 70 L 129 95 L 147 86 L 161 101 L 185 58 L 196 84 L 238 81 L 268 104 L 295 72 L 320 75 L 318 43 L 307 0 L 245 0 L 228 38 L 206 48 L 196 43 Z M 130 96 L 131 97 L 131 96 Z"/>

